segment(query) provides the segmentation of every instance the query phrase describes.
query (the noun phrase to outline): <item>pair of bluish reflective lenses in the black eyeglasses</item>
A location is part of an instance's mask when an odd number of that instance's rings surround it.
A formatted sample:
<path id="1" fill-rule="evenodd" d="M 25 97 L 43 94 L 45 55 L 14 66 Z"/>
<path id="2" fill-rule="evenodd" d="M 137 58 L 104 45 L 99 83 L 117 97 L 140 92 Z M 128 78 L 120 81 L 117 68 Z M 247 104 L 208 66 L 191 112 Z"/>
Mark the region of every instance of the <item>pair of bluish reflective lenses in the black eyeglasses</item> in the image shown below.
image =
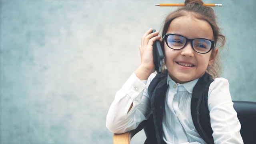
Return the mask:
<path id="1" fill-rule="evenodd" d="M 176 50 L 182 49 L 187 43 L 186 41 L 186 38 L 179 35 L 169 35 L 167 38 L 168 46 Z M 198 38 L 192 41 L 192 46 L 196 52 L 206 53 L 210 50 L 212 42 L 210 42 L 209 40 Z"/>

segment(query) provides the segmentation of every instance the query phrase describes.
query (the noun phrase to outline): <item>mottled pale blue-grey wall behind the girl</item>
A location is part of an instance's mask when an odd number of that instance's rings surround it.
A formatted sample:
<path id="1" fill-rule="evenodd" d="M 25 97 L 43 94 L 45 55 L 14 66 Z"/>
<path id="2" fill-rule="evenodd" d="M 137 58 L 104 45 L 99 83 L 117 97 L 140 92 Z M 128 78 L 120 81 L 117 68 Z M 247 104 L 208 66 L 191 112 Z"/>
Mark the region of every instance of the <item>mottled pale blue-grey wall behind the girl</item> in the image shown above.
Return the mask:
<path id="1" fill-rule="evenodd" d="M 140 64 L 141 37 L 176 9 L 154 5 L 183 2 L 1 0 L 0 143 L 112 143 L 106 114 Z M 214 2 L 229 48 L 222 77 L 233 100 L 256 102 L 256 1 Z"/>

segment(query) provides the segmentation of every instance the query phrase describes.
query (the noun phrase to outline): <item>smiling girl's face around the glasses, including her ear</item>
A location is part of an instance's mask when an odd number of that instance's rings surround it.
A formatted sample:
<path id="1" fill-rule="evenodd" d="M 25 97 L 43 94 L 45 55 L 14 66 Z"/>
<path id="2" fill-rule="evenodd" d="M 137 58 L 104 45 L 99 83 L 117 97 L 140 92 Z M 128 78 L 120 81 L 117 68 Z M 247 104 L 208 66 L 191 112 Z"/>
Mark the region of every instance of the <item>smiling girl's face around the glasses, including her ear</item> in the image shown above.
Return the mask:
<path id="1" fill-rule="evenodd" d="M 207 38 L 213 40 L 213 32 L 210 24 L 193 16 L 182 16 L 172 20 L 167 33 L 179 34 L 186 38 Z M 214 48 L 216 54 L 218 48 Z M 215 57 L 212 51 L 206 54 L 195 52 L 188 42 L 181 50 L 173 50 L 164 42 L 165 64 L 168 74 L 176 83 L 186 83 L 200 78 L 206 72 Z"/>

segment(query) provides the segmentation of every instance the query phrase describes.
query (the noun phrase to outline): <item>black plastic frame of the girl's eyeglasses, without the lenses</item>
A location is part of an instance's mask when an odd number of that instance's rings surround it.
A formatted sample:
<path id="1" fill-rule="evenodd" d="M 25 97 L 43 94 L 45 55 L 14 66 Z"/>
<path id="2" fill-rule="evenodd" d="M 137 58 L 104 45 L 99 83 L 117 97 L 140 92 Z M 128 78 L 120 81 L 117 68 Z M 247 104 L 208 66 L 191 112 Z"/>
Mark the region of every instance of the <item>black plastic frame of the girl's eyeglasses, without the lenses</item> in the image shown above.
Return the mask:
<path id="1" fill-rule="evenodd" d="M 165 34 L 162 39 L 165 41 L 166 45 L 167 45 L 169 48 L 171 48 L 171 47 L 168 45 L 167 38 L 168 38 L 168 36 L 170 36 L 170 35 L 181 36 L 181 35 L 179 35 L 179 34 Z M 191 46 L 192 46 L 192 48 L 193 48 L 193 50 L 194 50 L 195 52 L 197 52 L 197 51 L 194 49 L 193 40 L 196 40 L 196 39 L 209 40 L 209 39 L 207 39 L 207 38 L 194 38 L 194 39 L 189 39 L 189 38 L 186 38 L 186 37 L 184 37 L 184 36 L 182 36 L 182 37 L 186 39 L 186 43 L 184 44 L 184 46 L 183 46 L 182 48 L 184 48 L 184 47 L 186 46 L 186 44 L 187 44 L 188 42 L 190 42 L 190 43 L 191 43 Z M 209 41 L 212 43 L 212 45 L 211 45 L 211 48 L 209 49 L 208 52 L 210 52 L 212 49 L 214 49 L 214 43 L 215 43 L 214 40 L 209 40 Z M 173 50 L 181 50 L 182 48 L 180 48 L 180 49 L 171 48 L 171 49 L 173 49 Z M 199 54 L 207 54 L 208 52 L 197 52 L 197 53 L 199 53 Z"/>

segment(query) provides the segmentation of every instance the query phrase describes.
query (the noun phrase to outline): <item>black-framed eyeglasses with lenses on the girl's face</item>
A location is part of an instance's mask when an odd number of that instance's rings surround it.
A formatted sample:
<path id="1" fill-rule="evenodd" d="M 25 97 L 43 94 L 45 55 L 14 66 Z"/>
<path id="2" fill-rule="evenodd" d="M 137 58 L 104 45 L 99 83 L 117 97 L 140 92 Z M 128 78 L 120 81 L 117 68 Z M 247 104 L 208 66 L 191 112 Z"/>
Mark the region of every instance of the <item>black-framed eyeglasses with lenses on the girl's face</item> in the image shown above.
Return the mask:
<path id="1" fill-rule="evenodd" d="M 188 39 L 178 34 L 165 34 L 163 40 L 173 50 L 181 50 L 188 42 L 191 42 L 193 50 L 200 54 L 206 54 L 214 48 L 214 41 L 206 38 Z"/>

